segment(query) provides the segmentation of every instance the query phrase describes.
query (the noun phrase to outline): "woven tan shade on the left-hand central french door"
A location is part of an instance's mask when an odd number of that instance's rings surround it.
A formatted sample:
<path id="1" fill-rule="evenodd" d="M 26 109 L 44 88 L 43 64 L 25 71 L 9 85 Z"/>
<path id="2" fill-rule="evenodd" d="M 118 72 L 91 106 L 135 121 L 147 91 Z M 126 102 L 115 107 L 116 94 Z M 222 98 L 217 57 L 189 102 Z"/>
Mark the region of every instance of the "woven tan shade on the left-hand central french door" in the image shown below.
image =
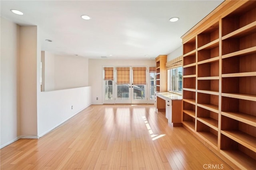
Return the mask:
<path id="1" fill-rule="evenodd" d="M 118 85 L 130 83 L 130 67 L 116 67 L 116 75 Z"/>

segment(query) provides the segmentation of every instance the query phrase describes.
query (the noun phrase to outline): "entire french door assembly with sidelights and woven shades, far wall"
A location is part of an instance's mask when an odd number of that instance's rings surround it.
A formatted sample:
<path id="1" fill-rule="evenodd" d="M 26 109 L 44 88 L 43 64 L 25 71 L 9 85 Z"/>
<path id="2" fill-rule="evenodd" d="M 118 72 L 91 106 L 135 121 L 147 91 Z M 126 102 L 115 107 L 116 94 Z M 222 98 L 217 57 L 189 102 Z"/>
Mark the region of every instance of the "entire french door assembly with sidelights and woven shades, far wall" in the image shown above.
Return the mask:
<path id="1" fill-rule="evenodd" d="M 156 67 L 103 67 L 103 103 L 154 103 Z"/>

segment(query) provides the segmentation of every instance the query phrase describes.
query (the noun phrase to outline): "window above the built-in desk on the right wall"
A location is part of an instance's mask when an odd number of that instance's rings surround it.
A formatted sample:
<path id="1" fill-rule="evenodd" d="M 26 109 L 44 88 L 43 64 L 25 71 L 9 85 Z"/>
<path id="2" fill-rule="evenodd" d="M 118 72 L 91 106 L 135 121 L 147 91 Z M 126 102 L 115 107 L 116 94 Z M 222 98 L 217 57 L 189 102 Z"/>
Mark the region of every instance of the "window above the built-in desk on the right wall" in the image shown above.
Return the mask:
<path id="1" fill-rule="evenodd" d="M 182 67 L 168 70 L 168 91 L 182 93 Z"/>

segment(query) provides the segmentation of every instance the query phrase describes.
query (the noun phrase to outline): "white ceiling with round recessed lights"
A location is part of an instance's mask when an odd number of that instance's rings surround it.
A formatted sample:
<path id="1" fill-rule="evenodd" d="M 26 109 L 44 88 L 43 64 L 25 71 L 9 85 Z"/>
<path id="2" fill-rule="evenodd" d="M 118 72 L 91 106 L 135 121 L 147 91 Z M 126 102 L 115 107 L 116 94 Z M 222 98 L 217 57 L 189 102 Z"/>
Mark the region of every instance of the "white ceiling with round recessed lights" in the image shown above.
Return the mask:
<path id="1" fill-rule="evenodd" d="M 1 17 L 38 26 L 43 51 L 94 59 L 154 59 L 180 47 L 180 37 L 222 2 L 1 0 L 0 6 Z M 24 15 L 13 14 L 11 9 Z M 89 15 L 91 20 L 83 20 L 81 15 Z M 169 22 L 172 17 L 180 20 Z"/>

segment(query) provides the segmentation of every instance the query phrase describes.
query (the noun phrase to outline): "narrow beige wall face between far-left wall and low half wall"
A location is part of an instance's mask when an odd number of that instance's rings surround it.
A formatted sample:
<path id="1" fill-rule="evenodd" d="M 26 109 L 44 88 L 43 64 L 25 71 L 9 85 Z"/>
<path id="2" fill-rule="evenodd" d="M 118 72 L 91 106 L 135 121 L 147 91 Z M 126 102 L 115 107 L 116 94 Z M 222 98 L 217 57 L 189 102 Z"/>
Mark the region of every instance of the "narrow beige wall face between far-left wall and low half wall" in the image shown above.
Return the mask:
<path id="1" fill-rule="evenodd" d="M 37 26 L 20 27 L 20 135 L 37 136 Z"/>

